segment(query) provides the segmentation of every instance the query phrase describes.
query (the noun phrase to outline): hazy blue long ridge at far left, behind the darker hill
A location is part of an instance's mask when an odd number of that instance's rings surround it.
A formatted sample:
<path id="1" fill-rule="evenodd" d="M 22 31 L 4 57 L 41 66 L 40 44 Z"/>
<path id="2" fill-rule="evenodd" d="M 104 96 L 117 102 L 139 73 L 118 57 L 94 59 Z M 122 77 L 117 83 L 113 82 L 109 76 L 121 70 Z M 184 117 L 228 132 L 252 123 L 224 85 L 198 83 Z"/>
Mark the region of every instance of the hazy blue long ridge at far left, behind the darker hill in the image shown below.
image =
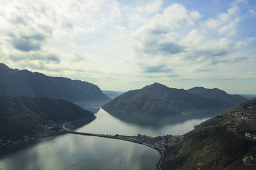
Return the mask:
<path id="1" fill-rule="evenodd" d="M 72 102 L 109 100 L 92 83 L 10 69 L 4 64 L 0 64 L 0 96 L 49 97 Z"/>

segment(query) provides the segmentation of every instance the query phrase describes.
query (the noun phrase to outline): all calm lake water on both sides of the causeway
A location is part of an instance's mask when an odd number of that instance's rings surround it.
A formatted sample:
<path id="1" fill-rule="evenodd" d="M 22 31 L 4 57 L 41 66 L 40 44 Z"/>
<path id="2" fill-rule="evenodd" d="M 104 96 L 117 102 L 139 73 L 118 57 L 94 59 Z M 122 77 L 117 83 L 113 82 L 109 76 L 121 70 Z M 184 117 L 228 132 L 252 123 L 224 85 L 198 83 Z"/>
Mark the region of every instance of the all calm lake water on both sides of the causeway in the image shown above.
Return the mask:
<path id="1" fill-rule="evenodd" d="M 77 131 L 99 134 L 147 134 L 159 136 L 164 134 L 184 134 L 194 125 L 206 118 L 186 120 L 176 124 L 131 123 L 131 119 L 122 120 L 100 109 L 96 119 Z M 145 120 L 147 118 L 143 118 Z M 136 118 L 138 120 L 138 118 Z M 65 134 L 47 139 L 35 145 L 23 148 L 0 158 L 0 169 L 156 169 L 159 153 L 147 146 L 118 141 L 116 139 L 97 138 Z"/>

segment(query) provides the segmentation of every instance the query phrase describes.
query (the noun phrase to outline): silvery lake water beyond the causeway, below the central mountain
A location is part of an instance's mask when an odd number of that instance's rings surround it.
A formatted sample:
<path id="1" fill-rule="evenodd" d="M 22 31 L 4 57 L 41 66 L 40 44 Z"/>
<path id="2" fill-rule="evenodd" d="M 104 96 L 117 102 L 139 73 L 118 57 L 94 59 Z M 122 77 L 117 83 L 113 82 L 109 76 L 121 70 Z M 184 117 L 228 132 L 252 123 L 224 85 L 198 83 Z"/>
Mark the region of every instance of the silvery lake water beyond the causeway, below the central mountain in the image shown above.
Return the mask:
<path id="1" fill-rule="evenodd" d="M 131 116 L 129 120 L 119 119 L 110 115 L 108 112 L 100 109 L 95 116 L 97 117 L 93 122 L 88 125 L 77 129 L 80 132 L 92 132 L 97 134 L 124 134 L 124 135 L 138 135 L 147 134 L 148 136 L 162 136 L 166 134 L 184 134 L 193 130 L 194 125 L 198 125 L 201 122 L 207 120 L 208 118 L 194 118 L 191 120 L 180 120 L 180 122 L 175 122 L 173 120 L 167 120 L 166 118 L 148 118 L 141 117 L 141 119 L 147 119 L 143 124 L 134 123 L 138 120 L 138 117 Z M 134 120 L 132 120 L 132 117 Z M 154 124 L 152 122 L 155 121 Z M 148 122 L 149 123 L 148 123 Z M 168 124 L 163 123 L 168 122 Z"/>

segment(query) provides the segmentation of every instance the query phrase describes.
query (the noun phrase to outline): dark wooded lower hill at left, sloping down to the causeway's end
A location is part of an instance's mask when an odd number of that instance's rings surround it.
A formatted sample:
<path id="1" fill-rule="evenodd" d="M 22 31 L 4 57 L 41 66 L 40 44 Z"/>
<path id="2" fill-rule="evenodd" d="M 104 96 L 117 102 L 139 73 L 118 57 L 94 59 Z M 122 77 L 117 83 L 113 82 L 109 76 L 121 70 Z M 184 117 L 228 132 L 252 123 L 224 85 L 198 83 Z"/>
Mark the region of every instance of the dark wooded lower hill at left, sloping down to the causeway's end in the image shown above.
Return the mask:
<path id="1" fill-rule="evenodd" d="M 95 116 L 76 104 L 44 97 L 0 96 L 0 139 L 22 139 L 45 126 Z M 60 129 L 59 129 L 60 130 Z"/>

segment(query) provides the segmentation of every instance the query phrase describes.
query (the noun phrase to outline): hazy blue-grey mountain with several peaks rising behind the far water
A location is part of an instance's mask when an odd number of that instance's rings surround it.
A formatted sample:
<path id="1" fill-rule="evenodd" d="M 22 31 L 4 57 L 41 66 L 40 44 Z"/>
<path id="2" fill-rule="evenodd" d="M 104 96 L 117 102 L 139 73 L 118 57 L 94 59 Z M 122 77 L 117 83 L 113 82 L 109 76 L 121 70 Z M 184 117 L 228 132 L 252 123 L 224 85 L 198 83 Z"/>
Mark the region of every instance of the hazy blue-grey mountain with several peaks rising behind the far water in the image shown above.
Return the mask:
<path id="1" fill-rule="evenodd" d="M 109 113 L 139 113 L 161 117 L 223 111 L 244 101 L 248 100 L 241 96 L 229 95 L 219 89 L 184 90 L 154 83 L 139 90 L 125 92 L 104 104 L 102 108 Z"/>

